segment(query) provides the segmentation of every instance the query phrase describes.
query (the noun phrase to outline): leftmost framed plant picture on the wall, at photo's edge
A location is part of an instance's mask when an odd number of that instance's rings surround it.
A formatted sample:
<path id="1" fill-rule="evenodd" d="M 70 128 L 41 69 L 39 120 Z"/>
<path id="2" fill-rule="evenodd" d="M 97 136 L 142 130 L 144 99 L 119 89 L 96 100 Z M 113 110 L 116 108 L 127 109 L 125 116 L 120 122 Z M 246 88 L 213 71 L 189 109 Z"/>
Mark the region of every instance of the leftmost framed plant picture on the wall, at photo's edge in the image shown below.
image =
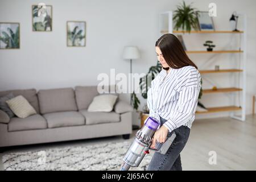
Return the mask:
<path id="1" fill-rule="evenodd" d="M 0 23 L 0 49 L 19 49 L 19 23 Z"/>

